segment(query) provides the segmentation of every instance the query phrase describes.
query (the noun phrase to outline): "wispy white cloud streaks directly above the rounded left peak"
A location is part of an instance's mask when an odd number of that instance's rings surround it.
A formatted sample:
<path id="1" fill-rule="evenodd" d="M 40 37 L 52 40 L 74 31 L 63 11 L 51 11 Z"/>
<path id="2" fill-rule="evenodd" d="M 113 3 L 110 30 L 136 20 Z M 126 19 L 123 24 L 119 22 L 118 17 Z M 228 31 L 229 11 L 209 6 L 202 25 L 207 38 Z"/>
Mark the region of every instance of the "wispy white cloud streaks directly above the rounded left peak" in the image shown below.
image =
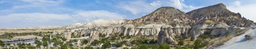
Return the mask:
<path id="1" fill-rule="evenodd" d="M 168 6 L 180 9 L 184 12 L 189 12 L 196 8 L 201 7 L 194 7 L 192 5 L 186 5 L 183 3 L 184 0 L 161 0 L 161 1 L 154 1 L 152 3 L 147 3 L 144 0 L 139 1 L 128 1 L 128 2 L 121 2 L 120 5 L 117 5 L 118 8 L 122 8 L 124 10 L 130 11 L 132 14 L 148 14 L 156 10 L 157 8 Z"/>

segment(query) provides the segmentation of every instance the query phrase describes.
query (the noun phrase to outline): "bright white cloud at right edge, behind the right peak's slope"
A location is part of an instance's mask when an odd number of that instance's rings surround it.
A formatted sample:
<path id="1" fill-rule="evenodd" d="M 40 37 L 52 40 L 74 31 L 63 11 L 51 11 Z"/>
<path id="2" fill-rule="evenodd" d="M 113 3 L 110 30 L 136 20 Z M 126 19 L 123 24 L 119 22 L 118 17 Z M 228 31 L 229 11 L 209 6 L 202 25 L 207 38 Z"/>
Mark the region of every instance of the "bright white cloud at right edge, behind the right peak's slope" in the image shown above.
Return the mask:
<path id="1" fill-rule="evenodd" d="M 228 10 L 240 13 L 242 17 L 244 16 L 246 19 L 253 20 L 256 22 L 256 14 L 254 9 L 256 9 L 256 4 L 247 4 L 247 5 L 241 5 L 240 1 L 235 1 L 233 3 L 230 3 L 230 6 L 227 6 Z"/>

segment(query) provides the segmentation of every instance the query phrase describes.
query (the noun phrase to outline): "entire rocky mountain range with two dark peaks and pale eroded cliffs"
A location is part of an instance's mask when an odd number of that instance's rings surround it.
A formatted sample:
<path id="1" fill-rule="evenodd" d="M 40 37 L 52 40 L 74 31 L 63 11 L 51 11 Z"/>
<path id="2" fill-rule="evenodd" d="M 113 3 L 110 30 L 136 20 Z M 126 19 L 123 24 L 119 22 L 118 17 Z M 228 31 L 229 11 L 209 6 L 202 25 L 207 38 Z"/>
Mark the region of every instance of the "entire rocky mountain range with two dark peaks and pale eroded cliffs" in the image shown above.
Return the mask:
<path id="1" fill-rule="evenodd" d="M 229 11 L 222 3 L 184 13 L 173 7 L 161 7 L 141 18 L 128 20 L 97 19 L 86 23 L 71 24 L 64 29 L 71 30 L 74 36 L 90 36 L 88 45 L 99 40 L 99 35 L 158 35 L 157 43 L 174 42 L 175 36 L 196 40 L 200 35 L 234 34 L 234 27 L 255 26 L 251 20 L 239 13 Z M 232 29 L 231 29 L 232 28 Z M 237 29 L 239 30 L 239 29 Z M 65 32 L 65 31 L 64 31 Z M 69 32 L 69 31 L 68 31 Z M 69 36 L 67 35 L 69 38 Z M 180 38 L 180 37 L 176 37 Z"/>

